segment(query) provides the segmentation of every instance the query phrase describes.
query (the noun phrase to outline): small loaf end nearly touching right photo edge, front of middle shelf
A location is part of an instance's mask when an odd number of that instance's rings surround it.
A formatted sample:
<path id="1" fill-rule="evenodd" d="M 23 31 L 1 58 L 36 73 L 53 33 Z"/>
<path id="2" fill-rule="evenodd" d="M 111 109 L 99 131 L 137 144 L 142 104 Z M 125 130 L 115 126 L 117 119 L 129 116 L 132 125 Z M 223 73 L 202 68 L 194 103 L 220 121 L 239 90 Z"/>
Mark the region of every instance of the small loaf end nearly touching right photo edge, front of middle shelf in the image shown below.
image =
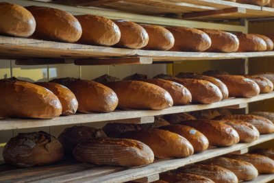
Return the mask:
<path id="1" fill-rule="evenodd" d="M 258 86 L 260 87 L 260 93 L 271 93 L 273 91 L 273 83 L 266 77 L 253 75 L 245 75 L 245 77 L 249 78 L 250 80 L 253 80 L 253 82 L 256 82 L 256 84 L 258 84 Z"/>

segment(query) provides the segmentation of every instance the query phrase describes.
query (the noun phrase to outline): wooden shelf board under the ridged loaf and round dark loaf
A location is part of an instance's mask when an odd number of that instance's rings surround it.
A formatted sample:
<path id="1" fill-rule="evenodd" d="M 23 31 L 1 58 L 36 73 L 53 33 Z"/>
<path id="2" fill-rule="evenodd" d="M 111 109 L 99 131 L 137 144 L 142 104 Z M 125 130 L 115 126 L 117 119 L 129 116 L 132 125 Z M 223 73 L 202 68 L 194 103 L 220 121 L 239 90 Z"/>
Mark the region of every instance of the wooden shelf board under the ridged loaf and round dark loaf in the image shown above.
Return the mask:
<path id="1" fill-rule="evenodd" d="M 257 141 L 252 143 L 238 143 L 231 147 L 218 147 L 194 154 L 188 158 L 158 160 L 147 166 L 130 169 L 123 167 L 96 167 L 92 164 L 79 163 L 74 160 L 64 160 L 50 166 L 26 169 L 16 169 L 15 167 L 3 164 L 0 165 L 0 182 L 18 182 L 19 180 L 20 182 L 126 182 L 151 177 L 164 171 L 183 167 L 186 164 L 228 154 L 272 139 L 274 139 L 274 134 L 266 134 L 260 136 Z M 257 180 L 270 179 L 269 177 L 266 179 L 266 176 L 262 175 Z"/>

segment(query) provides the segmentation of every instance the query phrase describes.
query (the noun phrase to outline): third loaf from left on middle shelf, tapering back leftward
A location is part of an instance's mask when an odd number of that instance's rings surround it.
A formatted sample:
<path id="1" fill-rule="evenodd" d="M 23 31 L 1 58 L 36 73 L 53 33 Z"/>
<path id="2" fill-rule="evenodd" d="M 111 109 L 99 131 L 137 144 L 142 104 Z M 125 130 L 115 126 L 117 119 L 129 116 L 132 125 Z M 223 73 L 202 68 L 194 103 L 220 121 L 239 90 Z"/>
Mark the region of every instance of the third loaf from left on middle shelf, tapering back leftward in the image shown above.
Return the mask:
<path id="1" fill-rule="evenodd" d="M 118 105 L 117 95 L 103 84 L 69 77 L 51 82 L 62 84 L 74 93 L 79 103 L 79 112 L 112 112 Z"/>

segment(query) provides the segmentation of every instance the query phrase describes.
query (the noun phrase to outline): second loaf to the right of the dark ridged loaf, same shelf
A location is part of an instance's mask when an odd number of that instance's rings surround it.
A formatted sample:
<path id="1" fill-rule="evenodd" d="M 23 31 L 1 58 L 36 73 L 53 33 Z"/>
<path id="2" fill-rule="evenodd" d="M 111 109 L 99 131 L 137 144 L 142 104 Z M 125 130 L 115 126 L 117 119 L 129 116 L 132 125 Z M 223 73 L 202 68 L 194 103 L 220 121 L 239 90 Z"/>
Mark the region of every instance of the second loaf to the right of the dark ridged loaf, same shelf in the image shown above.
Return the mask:
<path id="1" fill-rule="evenodd" d="M 169 132 L 183 136 L 191 143 L 195 152 L 205 151 L 208 149 L 208 138 L 193 127 L 186 125 L 165 125 L 160 127 L 160 129 L 168 130 Z"/>

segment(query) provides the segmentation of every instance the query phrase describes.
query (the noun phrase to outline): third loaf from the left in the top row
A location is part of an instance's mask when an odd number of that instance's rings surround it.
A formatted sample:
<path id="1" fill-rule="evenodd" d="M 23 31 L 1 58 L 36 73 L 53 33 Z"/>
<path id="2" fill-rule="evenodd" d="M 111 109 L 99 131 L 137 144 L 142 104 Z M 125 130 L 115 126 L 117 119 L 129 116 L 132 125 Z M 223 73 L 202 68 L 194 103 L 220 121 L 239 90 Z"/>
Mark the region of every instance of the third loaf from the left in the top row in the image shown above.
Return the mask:
<path id="1" fill-rule="evenodd" d="M 110 19 L 92 14 L 77 15 L 75 18 L 81 24 L 83 31 L 79 43 L 112 46 L 121 38 L 119 27 Z"/>

